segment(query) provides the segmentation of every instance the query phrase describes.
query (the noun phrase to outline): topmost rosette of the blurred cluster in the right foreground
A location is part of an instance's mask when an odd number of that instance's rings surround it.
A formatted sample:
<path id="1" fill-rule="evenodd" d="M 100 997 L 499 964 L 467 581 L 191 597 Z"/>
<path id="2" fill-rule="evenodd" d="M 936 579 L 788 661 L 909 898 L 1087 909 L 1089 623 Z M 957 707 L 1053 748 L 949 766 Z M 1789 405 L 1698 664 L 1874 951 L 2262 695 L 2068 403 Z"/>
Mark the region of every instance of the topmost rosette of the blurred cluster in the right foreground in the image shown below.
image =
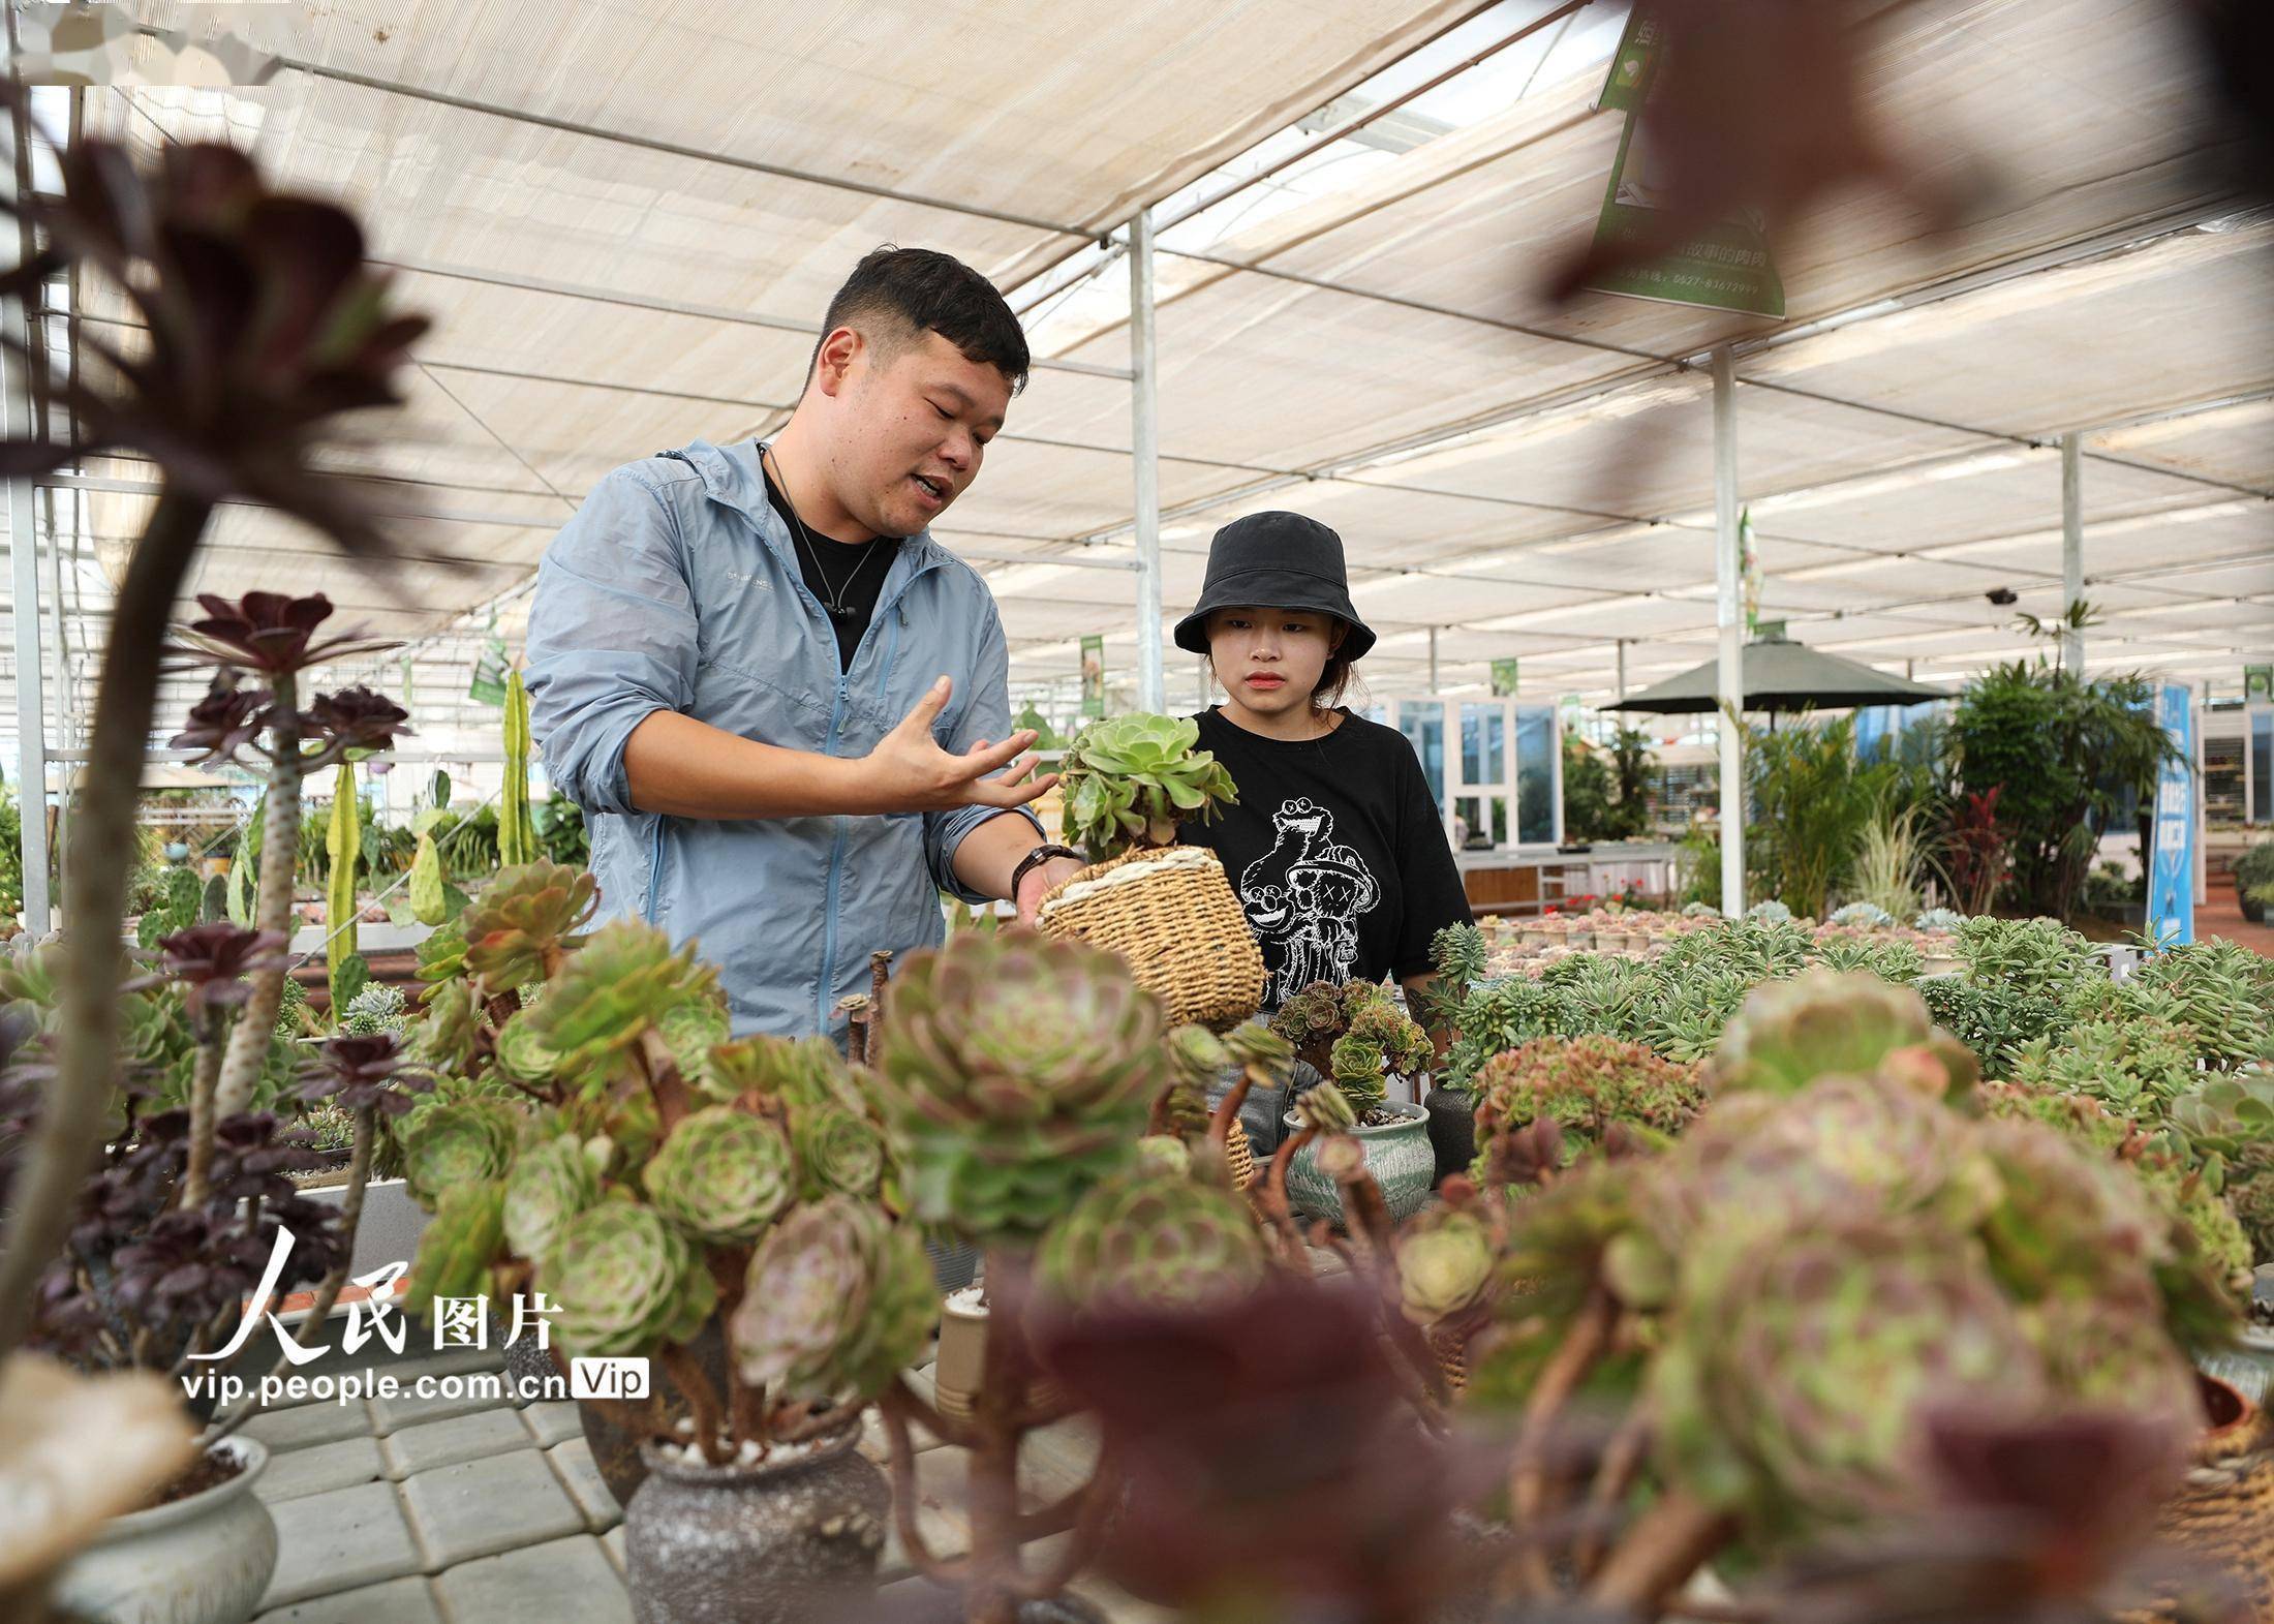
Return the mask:
<path id="1" fill-rule="evenodd" d="M 1756 987 L 1715 1051 L 1717 1089 L 1792 1094 L 1819 1076 L 1867 1076 L 1933 1021 L 1908 987 L 1828 969 Z"/>

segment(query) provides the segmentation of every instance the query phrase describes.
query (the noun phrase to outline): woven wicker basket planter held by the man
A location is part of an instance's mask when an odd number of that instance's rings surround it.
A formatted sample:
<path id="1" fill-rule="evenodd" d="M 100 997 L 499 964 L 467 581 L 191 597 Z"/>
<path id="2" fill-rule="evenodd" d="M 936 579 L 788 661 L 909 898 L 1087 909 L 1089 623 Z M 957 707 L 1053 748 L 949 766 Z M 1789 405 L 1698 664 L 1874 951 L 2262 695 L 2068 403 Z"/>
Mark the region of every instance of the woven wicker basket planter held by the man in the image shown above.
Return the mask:
<path id="1" fill-rule="evenodd" d="M 1264 955 L 1207 846 L 1139 846 L 1051 887 L 1037 926 L 1128 960 L 1171 1026 L 1230 1030 L 1264 999 Z"/>

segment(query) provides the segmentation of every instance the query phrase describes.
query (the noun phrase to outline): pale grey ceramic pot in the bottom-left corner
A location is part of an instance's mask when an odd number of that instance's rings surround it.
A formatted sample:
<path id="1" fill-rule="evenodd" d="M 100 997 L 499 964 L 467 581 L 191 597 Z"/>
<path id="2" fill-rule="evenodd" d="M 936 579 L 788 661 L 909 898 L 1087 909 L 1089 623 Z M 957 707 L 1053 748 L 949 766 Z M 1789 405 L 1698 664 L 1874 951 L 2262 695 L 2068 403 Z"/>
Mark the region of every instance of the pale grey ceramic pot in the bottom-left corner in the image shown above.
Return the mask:
<path id="1" fill-rule="evenodd" d="M 214 1444 L 236 1476 L 111 1517 L 55 1581 L 55 1608 L 89 1624 L 246 1624 L 277 1569 L 277 1526 L 252 1492 L 268 1447 Z"/>

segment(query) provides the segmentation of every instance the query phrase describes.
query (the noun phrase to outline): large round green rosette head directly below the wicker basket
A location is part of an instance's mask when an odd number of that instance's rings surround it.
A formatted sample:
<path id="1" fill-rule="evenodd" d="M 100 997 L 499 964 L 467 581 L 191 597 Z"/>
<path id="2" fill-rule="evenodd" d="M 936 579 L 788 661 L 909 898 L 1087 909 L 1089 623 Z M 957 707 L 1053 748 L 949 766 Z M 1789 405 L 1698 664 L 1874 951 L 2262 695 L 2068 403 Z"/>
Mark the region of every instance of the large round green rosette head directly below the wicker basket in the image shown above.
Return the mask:
<path id="1" fill-rule="evenodd" d="M 1121 1169 L 1162 1076 L 1162 1017 L 1112 953 L 964 933 L 891 985 L 878 1094 L 926 1224 L 1035 1237 Z"/>

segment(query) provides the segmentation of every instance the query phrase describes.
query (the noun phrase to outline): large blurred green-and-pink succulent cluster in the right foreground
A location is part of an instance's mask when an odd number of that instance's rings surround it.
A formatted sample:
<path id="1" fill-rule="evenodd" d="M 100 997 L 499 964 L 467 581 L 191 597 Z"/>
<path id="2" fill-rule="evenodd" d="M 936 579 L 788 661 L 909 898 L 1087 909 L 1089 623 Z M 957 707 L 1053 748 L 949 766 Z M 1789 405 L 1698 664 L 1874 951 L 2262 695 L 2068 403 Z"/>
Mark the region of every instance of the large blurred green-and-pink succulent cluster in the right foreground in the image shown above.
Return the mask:
<path id="1" fill-rule="evenodd" d="M 1401 1258 L 1414 1317 L 1467 1342 L 1467 1399 L 1521 1412 L 1519 1526 L 1576 1528 L 1521 1551 L 1510 1590 L 1653 1617 L 1719 1553 L 1758 1569 L 1917 1526 L 1944 1494 L 1922 1442 L 1974 1417 L 2015 1428 L 2006 1449 L 2051 1447 L 2033 1417 L 2122 1424 L 2144 1444 L 2103 1490 L 2176 1481 L 2201 1426 L 2185 1356 L 2233 1303 L 2128 1174 L 1983 1119 L 1965 1051 L 1867 976 L 1756 992 L 1715 1080 L 1662 1153 L 1605 1135 L 1567 1165 L 1560 1130 L 1519 1135 L 1526 1185 L 1458 1180 L 1458 1219 Z M 1560 1453 L 1583 1394 L 1612 1406 L 1592 1472 Z M 1605 1538 L 1615 1506 L 1640 1515 Z"/>

